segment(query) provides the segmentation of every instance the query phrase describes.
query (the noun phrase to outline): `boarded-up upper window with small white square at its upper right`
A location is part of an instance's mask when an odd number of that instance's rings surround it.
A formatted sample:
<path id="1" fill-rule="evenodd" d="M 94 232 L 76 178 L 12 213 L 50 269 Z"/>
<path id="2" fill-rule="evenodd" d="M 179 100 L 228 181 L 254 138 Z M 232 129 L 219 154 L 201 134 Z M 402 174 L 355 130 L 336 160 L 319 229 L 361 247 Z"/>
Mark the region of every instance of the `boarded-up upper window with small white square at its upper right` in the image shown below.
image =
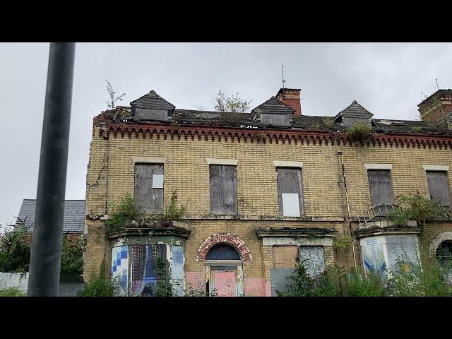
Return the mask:
<path id="1" fill-rule="evenodd" d="M 163 213 L 163 165 L 135 164 L 135 207 L 145 214 Z"/>

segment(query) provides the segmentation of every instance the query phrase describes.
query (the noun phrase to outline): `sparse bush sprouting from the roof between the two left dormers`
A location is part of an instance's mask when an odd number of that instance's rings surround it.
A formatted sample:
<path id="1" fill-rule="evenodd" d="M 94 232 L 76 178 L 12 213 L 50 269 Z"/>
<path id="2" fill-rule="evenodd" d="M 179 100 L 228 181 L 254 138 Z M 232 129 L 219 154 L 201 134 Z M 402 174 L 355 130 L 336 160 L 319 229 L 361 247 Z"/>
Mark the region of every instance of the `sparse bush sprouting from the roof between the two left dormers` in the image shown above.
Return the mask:
<path id="1" fill-rule="evenodd" d="M 239 94 L 226 96 L 220 90 L 215 97 L 215 110 L 220 112 L 220 123 L 230 127 L 237 127 L 242 121 L 242 113 L 246 113 L 251 105 L 251 100 L 244 100 Z"/>

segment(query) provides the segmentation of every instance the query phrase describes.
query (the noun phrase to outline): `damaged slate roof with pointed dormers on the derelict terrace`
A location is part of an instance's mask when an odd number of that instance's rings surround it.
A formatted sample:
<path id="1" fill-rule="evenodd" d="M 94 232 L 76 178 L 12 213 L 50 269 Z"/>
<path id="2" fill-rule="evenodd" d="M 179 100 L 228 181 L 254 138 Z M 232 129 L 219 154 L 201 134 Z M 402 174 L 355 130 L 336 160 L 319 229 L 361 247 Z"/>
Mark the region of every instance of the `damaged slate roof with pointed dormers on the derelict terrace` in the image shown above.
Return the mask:
<path id="1" fill-rule="evenodd" d="M 167 109 L 171 110 L 167 120 L 153 119 L 155 122 L 166 124 L 188 125 L 188 126 L 218 126 L 233 127 L 242 129 L 295 129 L 307 131 L 345 131 L 347 126 L 341 124 L 343 117 L 362 118 L 371 123 L 374 133 L 384 134 L 448 134 L 443 125 L 432 124 L 420 120 L 396 120 L 396 119 L 371 119 L 374 115 L 367 109 L 359 105 L 354 100 L 338 114 L 331 116 L 309 116 L 294 114 L 294 109 L 285 105 L 276 97 L 258 105 L 251 112 L 229 113 L 215 112 L 199 109 L 175 109 L 167 100 L 157 95 L 154 90 L 131 102 L 131 107 L 118 106 L 116 109 L 102 112 L 97 118 L 97 122 L 117 122 L 131 124 L 150 124 L 150 121 L 138 121 L 135 119 L 135 108 L 145 109 Z M 273 126 L 263 124 L 259 119 L 261 114 L 291 114 L 289 126 Z M 358 119 L 359 120 L 359 119 Z"/>

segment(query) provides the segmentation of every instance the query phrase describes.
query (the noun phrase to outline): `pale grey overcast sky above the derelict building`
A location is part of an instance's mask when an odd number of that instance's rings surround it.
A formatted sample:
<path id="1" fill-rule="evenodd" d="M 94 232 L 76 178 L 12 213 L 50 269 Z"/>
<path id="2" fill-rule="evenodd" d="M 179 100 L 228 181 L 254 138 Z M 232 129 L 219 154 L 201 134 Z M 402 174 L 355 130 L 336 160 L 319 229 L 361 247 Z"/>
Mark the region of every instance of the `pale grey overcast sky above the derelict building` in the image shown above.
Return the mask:
<path id="1" fill-rule="evenodd" d="M 0 223 L 36 198 L 48 43 L 0 44 Z M 418 119 L 417 104 L 452 88 L 452 44 L 78 43 L 66 198 L 85 198 L 93 117 L 106 109 L 105 80 L 119 105 L 150 90 L 179 109 L 213 108 L 222 89 L 256 107 L 281 87 L 302 89 L 302 114 L 334 116 L 357 100 L 375 118 Z"/>

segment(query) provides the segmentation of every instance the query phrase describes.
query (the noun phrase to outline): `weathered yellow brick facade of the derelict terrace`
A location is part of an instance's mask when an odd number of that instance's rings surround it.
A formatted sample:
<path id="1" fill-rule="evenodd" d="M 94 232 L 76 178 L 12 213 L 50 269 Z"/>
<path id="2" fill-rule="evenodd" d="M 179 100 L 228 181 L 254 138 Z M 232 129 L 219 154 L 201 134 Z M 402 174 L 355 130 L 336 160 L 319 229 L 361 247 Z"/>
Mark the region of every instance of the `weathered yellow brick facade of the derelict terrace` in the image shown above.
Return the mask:
<path id="1" fill-rule="evenodd" d="M 201 136 L 191 138 L 177 131 L 154 133 L 101 133 L 95 126 L 90 145 L 87 175 L 87 221 L 85 236 L 85 276 L 97 270 L 105 259 L 111 261 L 112 243 L 105 236 L 105 215 L 126 194 L 133 194 L 133 157 L 164 157 L 164 206 L 170 203 L 171 192 L 177 189 L 178 204 L 186 207 L 186 223 L 191 234 L 186 239 L 186 280 L 203 280 L 204 263 L 196 261 L 199 246 L 210 235 L 227 232 L 241 239 L 248 247 L 252 261 L 244 261 L 245 295 L 270 295 L 270 269 L 273 268 L 271 246 L 262 246 L 256 234 L 258 227 L 326 228 L 335 230 L 336 237 L 349 236 L 350 229 L 345 198 L 343 155 L 350 215 L 356 218 L 371 207 L 366 163 L 392 164 L 394 196 L 419 190 L 428 196 L 427 176 L 422 165 L 452 167 L 451 148 L 408 148 L 405 144 L 350 145 L 342 141 L 292 140 L 252 136 Z M 300 131 L 299 133 L 307 133 Z M 327 139 L 328 140 L 328 139 Z M 270 142 L 271 141 L 271 142 Z M 239 218 L 210 216 L 209 165 L 207 158 L 238 160 L 237 201 Z M 280 218 L 278 212 L 277 177 L 273 160 L 302 162 L 304 218 Z M 448 175 L 452 183 L 451 175 Z M 357 227 L 352 224 L 353 229 Z M 429 225 L 430 241 L 441 232 L 451 231 L 452 224 L 438 222 Z M 336 252 L 325 246 L 327 266 L 339 263 L 351 267 L 362 258 L 355 242 L 355 258 L 351 249 Z M 187 278 L 191 277 L 191 278 Z"/>

